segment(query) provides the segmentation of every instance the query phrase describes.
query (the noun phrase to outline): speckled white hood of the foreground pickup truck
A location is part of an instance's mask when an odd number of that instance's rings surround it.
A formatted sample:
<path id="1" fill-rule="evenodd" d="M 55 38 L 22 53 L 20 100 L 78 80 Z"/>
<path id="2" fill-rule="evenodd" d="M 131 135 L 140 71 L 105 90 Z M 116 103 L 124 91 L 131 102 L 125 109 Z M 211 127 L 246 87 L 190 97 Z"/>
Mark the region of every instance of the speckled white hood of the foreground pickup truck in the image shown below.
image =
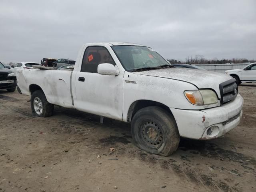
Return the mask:
<path id="1" fill-rule="evenodd" d="M 159 70 L 134 72 L 134 74 L 184 81 L 190 84 L 194 84 L 199 89 L 212 88 L 216 91 L 219 98 L 219 84 L 232 79 L 231 76 L 226 74 L 189 68 L 165 68 Z"/>

